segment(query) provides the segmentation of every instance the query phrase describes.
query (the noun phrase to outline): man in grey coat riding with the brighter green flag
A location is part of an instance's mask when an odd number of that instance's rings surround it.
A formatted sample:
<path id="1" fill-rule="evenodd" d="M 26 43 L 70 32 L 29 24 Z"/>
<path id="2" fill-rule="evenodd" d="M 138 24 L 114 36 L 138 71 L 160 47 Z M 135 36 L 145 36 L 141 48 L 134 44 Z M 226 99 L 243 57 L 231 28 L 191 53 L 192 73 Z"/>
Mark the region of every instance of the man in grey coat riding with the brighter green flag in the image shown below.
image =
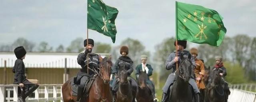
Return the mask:
<path id="1" fill-rule="evenodd" d="M 176 42 L 174 41 L 174 45 L 176 46 Z M 187 41 L 184 41 L 184 40 L 178 40 L 178 57 L 176 57 L 176 51 L 172 52 L 168 59 L 166 60 L 166 69 L 167 70 L 170 70 L 170 69 L 173 69 L 172 73 L 170 73 L 170 75 L 168 76 L 167 80 L 166 80 L 166 83 L 164 84 L 164 87 L 163 87 L 163 95 L 162 95 L 162 102 L 166 102 L 167 101 L 167 92 L 171 86 L 171 84 L 173 84 L 174 82 L 174 73 L 176 71 L 176 63 L 180 63 L 180 56 L 183 56 L 184 58 L 188 58 L 190 59 L 190 61 L 193 63 L 193 68 L 192 68 L 192 71 L 191 71 L 191 77 L 190 77 L 190 80 L 189 80 L 189 84 L 193 87 L 194 89 L 194 93 L 195 93 L 195 98 L 196 100 L 199 100 L 199 94 L 200 94 L 200 91 L 196 85 L 196 82 L 194 80 L 194 67 L 196 66 L 195 64 L 195 60 L 194 60 L 194 57 L 192 57 L 192 55 L 190 54 L 189 51 L 186 51 L 184 49 L 186 49 L 186 46 L 187 46 Z M 171 92 L 170 92 L 171 93 Z"/>

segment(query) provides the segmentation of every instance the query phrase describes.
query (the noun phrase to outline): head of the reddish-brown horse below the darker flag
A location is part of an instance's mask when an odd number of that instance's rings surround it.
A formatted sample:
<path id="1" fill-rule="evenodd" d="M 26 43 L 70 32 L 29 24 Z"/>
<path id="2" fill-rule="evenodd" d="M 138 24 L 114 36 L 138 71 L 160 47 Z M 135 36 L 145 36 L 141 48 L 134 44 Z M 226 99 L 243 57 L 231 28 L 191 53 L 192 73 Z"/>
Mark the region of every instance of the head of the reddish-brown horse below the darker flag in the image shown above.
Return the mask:
<path id="1" fill-rule="evenodd" d="M 111 74 L 112 61 L 111 58 L 100 57 L 100 75 L 104 81 L 104 84 L 109 84 Z"/>

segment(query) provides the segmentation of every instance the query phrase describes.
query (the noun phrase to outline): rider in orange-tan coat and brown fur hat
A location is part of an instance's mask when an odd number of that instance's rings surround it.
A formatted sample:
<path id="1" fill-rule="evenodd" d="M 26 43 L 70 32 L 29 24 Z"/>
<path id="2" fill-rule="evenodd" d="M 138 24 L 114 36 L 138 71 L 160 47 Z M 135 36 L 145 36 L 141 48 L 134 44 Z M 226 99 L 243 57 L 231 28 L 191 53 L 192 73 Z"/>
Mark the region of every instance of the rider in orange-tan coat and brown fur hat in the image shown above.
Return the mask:
<path id="1" fill-rule="evenodd" d="M 205 97 L 205 85 L 204 85 L 204 80 L 202 80 L 202 78 L 204 78 L 204 63 L 203 61 L 201 61 L 200 59 L 197 58 L 198 56 L 198 49 L 196 48 L 191 48 L 190 49 L 190 53 L 192 54 L 192 56 L 195 59 L 195 63 L 196 63 L 196 68 L 194 69 L 194 74 L 196 76 L 196 84 L 200 90 L 200 102 L 204 101 L 204 97 Z"/>

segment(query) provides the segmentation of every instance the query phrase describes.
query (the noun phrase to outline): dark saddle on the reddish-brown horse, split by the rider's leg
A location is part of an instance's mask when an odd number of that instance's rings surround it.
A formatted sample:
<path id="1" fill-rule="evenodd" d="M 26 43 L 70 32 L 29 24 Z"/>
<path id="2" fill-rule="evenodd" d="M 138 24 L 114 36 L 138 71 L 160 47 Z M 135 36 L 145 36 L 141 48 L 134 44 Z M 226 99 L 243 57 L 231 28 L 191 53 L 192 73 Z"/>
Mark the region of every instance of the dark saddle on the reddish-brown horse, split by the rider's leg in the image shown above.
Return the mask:
<path id="1" fill-rule="evenodd" d="M 92 78 L 90 78 L 88 81 L 86 81 L 86 84 L 84 86 L 84 91 L 83 91 L 83 97 L 89 96 L 89 91 L 92 87 L 92 84 L 96 80 L 97 76 L 98 75 L 94 75 Z M 72 89 L 72 96 L 77 96 L 78 84 L 75 84 L 74 78 L 71 80 L 71 89 Z"/>

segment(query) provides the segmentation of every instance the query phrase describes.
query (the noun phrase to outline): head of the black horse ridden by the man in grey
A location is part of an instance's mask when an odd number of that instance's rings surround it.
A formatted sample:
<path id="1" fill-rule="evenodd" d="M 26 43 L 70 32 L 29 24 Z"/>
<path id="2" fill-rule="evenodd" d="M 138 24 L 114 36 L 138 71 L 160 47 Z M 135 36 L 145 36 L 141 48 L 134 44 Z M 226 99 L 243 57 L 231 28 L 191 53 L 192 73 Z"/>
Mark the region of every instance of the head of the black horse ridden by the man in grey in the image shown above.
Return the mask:
<path id="1" fill-rule="evenodd" d="M 185 82 L 188 82 L 191 76 L 193 64 L 188 58 L 181 57 L 181 63 L 178 68 L 178 77 L 182 78 Z"/>

